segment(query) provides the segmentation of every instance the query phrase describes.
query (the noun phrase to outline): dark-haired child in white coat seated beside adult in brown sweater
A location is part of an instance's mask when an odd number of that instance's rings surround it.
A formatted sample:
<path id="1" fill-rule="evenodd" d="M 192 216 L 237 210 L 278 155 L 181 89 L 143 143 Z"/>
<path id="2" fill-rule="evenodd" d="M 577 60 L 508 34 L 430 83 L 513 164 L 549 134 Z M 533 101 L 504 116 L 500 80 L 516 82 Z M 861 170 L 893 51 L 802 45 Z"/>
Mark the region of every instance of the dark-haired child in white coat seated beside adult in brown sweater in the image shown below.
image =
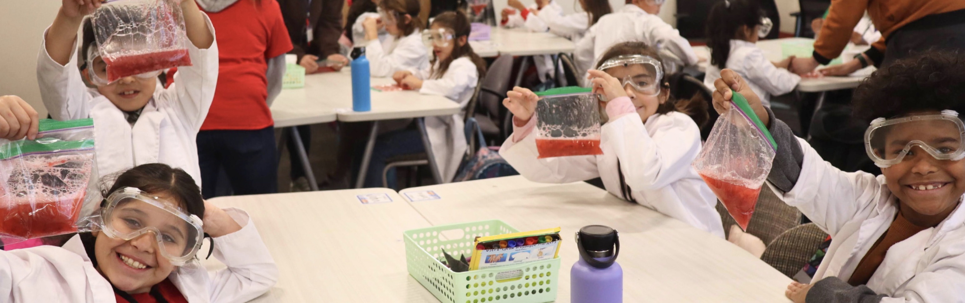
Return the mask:
<path id="1" fill-rule="evenodd" d="M 787 71 L 791 56 L 774 63 L 755 44 L 758 38 L 771 31 L 770 20 L 760 10 L 757 0 L 728 0 L 718 2 L 707 15 L 707 46 L 710 46 L 710 65 L 703 84 L 714 89 L 714 80 L 721 77 L 721 69 L 731 69 L 747 79 L 748 85 L 760 97 L 764 106 L 771 106 L 771 96 L 790 93 L 801 82 L 801 76 Z"/>

